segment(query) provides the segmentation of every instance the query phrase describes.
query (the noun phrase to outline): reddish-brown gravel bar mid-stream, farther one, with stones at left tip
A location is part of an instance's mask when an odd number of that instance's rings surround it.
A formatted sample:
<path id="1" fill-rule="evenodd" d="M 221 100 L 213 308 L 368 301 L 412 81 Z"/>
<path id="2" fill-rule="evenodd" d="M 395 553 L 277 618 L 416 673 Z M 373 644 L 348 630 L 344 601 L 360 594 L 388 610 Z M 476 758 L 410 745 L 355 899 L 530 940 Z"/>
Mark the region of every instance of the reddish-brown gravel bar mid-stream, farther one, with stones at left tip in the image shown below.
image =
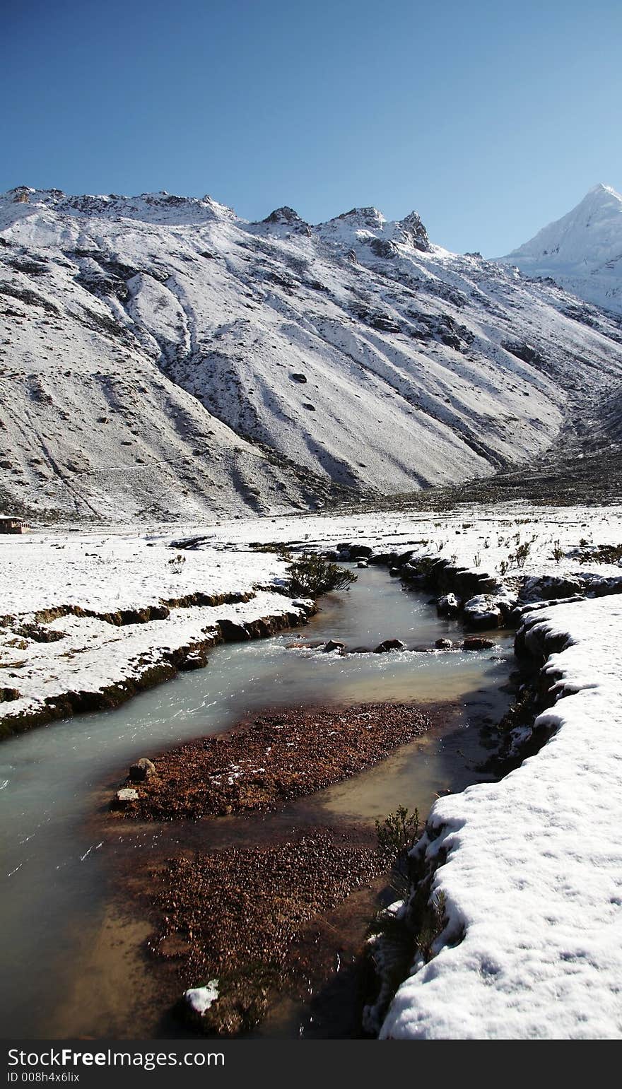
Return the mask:
<path id="1" fill-rule="evenodd" d="M 378 763 L 430 725 L 412 703 L 265 713 L 225 734 L 151 754 L 157 773 L 131 784 L 138 800 L 122 815 L 173 820 L 275 809 Z"/>

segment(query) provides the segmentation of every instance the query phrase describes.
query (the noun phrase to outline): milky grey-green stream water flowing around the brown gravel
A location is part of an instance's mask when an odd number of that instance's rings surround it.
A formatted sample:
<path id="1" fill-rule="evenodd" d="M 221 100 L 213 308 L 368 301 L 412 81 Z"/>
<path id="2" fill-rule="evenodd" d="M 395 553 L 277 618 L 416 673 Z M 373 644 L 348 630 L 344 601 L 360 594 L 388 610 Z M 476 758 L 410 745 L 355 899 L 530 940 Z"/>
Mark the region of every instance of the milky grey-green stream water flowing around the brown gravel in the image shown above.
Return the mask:
<path id="1" fill-rule="evenodd" d="M 126 867 L 132 853 L 161 857 L 180 843 L 196 846 L 202 836 L 209 846 L 243 842 L 249 834 L 260 843 L 288 822 L 373 825 L 399 804 L 425 816 L 438 794 L 492 778 L 479 769 L 489 755 L 479 727 L 499 721 L 509 706 L 503 684 L 513 664 L 512 635 L 487 633 L 496 646 L 477 652 L 339 657 L 301 647 L 328 638 L 370 650 L 393 637 L 407 647 L 463 638 L 456 622 L 437 616 L 427 595 L 404 590 L 377 567 L 357 575 L 347 591 L 320 600 L 306 627 L 216 647 L 206 669 L 183 673 L 114 710 L 1 743 L 5 1038 L 161 1035 L 162 1011 L 141 953 L 149 922 L 123 917 L 119 894 L 120 864 Z M 376 700 L 435 705 L 442 725 L 278 813 L 184 828 L 108 821 L 110 798 L 141 756 L 227 730 L 266 707 Z M 447 706 L 440 715 L 439 705 Z M 369 903 L 363 898 L 358 907 L 361 919 L 365 913 L 368 918 Z M 257 1035 L 301 1035 L 301 1011 L 300 1004 L 285 1003 Z M 170 1024 L 166 1029 L 172 1035 Z"/>

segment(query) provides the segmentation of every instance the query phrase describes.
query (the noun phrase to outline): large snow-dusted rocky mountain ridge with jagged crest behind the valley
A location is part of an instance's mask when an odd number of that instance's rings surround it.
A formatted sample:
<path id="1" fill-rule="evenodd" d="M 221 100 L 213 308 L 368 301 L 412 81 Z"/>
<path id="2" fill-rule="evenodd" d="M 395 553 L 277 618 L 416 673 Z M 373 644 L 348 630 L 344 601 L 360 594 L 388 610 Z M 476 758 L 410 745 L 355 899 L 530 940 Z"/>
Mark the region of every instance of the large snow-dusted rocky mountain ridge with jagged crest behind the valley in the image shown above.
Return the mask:
<path id="1" fill-rule="evenodd" d="M 0 509 L 205 518 L 527 462 L 619 387 L 621 322 L 412 212 L 0 197 Z"/>

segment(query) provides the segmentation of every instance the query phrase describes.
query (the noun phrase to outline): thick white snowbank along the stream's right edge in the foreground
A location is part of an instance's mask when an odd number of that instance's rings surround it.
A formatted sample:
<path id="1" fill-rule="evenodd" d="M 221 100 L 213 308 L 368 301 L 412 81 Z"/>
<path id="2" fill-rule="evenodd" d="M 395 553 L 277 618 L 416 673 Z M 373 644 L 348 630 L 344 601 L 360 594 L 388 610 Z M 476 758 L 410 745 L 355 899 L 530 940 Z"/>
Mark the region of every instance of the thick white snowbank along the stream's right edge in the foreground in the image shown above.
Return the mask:
<path id="1" fill-rule="evenodd" d="M 622 662 L 619 597 L 526 616 L 554 734 L 500 783 L 431 810 L 447 926 L 390 1007 L 391 1039 L 622 1037 Z"/>

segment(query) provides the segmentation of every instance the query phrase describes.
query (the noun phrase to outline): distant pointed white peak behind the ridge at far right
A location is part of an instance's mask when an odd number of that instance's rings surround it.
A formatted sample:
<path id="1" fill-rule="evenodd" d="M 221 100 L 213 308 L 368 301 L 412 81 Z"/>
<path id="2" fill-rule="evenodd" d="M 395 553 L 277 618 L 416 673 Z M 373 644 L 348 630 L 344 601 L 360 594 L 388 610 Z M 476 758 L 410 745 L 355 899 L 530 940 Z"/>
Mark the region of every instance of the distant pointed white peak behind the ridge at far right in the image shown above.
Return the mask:
<path id="1" fill-rule="evenodd" d="M 576 208 L 500 260 L 622 314 L 622 196 L 596 185 Z"/>

